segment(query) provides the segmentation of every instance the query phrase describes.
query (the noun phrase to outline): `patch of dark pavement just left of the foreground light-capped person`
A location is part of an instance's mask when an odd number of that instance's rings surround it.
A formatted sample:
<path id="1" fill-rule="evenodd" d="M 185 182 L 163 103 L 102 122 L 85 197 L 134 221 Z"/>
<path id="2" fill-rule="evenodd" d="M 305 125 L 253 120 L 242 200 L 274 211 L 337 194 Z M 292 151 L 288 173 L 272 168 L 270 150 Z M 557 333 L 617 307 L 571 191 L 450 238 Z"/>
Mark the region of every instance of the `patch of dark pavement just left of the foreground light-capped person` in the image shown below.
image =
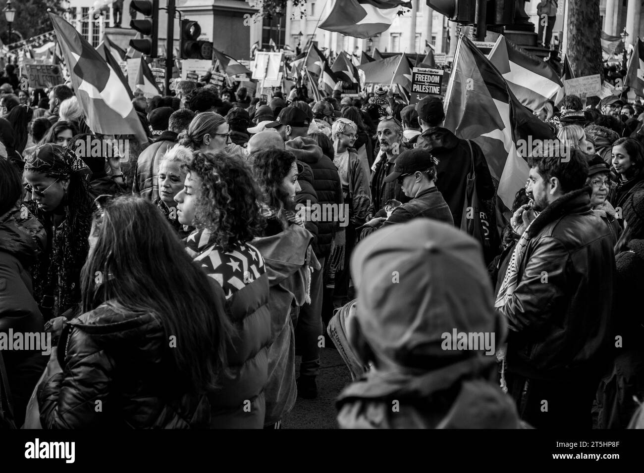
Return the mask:
<path id="1" fill-rule="evenodd" d="M 298 396 L 295 407 L 282 421 L 282 429 L 337 429 L 336 397 L 351 381 L 351 375 L 334 348 L 320 350 L 320 364 L 317 398 Z"/>

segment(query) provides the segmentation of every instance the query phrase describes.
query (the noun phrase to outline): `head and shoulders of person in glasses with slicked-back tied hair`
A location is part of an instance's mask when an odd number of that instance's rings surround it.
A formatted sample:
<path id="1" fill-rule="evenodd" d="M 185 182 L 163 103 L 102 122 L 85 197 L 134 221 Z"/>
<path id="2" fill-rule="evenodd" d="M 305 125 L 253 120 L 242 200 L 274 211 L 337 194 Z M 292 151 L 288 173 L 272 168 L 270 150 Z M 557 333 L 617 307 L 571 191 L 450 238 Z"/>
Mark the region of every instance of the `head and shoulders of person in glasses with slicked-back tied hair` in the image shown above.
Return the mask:
<path id="1" fill-rule="evenodd" d="M 194 151 L 243 156 L 243 148 L 231 141 L 231 129 L 226 119 L 218 113 L 202 112 L 194 116 L 187 130 L 178 136 L 178 143 Z"/>

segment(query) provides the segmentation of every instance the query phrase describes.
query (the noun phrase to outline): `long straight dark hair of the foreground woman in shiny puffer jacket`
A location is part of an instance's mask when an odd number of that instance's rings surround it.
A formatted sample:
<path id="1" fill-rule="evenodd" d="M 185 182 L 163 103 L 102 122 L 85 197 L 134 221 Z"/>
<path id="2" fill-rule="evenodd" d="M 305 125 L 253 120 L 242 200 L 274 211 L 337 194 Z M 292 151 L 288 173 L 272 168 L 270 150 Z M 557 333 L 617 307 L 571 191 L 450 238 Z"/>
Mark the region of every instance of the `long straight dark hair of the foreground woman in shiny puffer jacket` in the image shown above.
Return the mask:
<path id="1" fill-rule="evenodd" d="M 164 355 L 182 382 L 199 393 L 216 389 L 232 336 L 223 291 L 185 252 L 164 215 L 147 199 L 115 198 L 95 217 L 93 236 L 81 272 L 82 310 L 106 303 L 117 313 L 153 314 L 166 338 L 176 336 L 176 348 Z"/>

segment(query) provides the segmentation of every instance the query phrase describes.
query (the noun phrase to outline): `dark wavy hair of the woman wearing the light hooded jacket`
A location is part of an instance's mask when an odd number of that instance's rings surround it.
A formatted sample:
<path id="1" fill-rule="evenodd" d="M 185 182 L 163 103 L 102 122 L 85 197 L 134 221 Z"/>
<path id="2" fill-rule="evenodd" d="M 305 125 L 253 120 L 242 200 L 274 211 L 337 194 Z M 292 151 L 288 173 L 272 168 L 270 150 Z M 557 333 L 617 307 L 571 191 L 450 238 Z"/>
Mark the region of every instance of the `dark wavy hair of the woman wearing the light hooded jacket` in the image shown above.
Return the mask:
<path id="1" fill-rule="evenodd" d="M 264 203 L 275 212 L 284 226 L 285 210 L 293 210 L 295 203 L 284 190 L 282 183 L 289 175 L 295 156 L 279 148 L 269 148 L 253 154 L 255 178 L 260 185 Z"/>

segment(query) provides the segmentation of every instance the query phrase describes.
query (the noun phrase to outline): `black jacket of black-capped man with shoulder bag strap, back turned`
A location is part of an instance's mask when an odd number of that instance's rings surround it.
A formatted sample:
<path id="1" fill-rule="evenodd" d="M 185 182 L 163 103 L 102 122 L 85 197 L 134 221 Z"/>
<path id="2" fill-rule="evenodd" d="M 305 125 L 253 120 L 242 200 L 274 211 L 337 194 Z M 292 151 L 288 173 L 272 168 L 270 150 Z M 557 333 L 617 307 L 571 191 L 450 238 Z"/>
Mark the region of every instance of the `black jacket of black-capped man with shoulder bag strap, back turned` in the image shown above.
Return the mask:
<path id="1" fill-rule="evenodd" d="M 480 147 L 470 140 L 474 153 L 474 169 L 477 176 L 477 193 L 481 200 L 494 197 L 495 189 L 488 162 Z M 417 149 L 430 151 L 438 158 L 436 187 L 450 206 L 454 225 L 460 227 L 465 203 L 468 172 L 471 168 L 471 153 L 467 140 L 457 138 L 450 130 L 441 127 L 423 131 L 416 142 Z"/>

